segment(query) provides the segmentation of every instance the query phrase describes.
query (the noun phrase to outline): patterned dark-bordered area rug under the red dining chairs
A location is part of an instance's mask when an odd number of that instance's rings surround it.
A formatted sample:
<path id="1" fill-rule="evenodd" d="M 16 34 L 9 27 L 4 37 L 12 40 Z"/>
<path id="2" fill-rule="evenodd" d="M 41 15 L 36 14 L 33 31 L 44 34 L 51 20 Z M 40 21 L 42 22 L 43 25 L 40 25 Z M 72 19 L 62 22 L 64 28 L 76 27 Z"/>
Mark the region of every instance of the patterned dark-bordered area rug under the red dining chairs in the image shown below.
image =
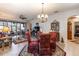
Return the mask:
<path id="1" fill-rule="evenodd" d="M 27 46 L 25 46 L 22 51 L 19 53 L 19 56 L 34 56 L 31 53 L 27 52 Z M 39 56 L 39 55 L 37 55 Z M 56 51 L 52 51 L 52 56 L 66 56 L 66 52 L 62 50 L 58 45 L 56 46 Z"/>

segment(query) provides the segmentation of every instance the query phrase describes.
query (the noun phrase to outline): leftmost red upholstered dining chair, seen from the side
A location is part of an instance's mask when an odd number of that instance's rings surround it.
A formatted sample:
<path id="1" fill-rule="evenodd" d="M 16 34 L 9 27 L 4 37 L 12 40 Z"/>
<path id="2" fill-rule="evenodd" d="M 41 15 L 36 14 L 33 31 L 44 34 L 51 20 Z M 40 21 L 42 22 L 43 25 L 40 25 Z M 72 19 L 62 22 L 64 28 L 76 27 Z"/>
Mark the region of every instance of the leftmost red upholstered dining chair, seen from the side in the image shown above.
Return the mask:
<path id="1" fill-rule="evenodd" d="M 28 40 L 28 52 L 37 55 L 39 53 L 39 40 L 32 40 L 29 32 L 26 32 L 26 38 Z"/>

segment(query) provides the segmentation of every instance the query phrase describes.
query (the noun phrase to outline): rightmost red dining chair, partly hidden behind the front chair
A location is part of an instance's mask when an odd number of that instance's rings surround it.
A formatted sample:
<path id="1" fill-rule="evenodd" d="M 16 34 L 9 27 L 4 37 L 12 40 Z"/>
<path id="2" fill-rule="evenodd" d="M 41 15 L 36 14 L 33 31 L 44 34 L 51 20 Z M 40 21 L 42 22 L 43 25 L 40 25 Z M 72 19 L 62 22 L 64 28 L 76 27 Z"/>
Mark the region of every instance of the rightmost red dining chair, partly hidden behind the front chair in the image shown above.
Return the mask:
<path id="1" fill-rule="evenodd" d="M 56 50 L 57 32 L 50 32 L 50 48 Z"/>

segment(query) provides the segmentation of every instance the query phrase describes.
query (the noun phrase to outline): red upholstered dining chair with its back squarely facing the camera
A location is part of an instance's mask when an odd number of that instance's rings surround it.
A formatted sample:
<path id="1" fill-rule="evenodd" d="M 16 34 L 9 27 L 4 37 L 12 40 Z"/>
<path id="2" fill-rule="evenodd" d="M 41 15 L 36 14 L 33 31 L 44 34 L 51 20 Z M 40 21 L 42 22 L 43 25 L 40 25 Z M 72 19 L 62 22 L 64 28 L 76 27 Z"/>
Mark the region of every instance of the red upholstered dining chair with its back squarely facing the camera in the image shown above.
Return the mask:
<path id="1" fill-rule="evenodd" d="M 52 51 L 50 49 L 50 34 L 49 33 L 42 33 L 40 35 L 40 42 L 39 42 L 39 55 L 40 56 L 50 56 L 52 55 Z"/>

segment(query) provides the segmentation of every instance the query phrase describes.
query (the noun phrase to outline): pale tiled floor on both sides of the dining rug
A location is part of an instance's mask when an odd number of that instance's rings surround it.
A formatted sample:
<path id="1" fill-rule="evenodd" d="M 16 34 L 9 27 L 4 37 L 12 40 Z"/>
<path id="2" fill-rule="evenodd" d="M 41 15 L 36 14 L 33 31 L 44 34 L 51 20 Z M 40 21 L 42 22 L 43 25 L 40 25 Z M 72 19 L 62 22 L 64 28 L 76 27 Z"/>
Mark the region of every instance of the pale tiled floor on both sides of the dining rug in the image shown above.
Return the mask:
<path id="1" fill-rule="evenodd" d="M 67 56 L 79 56 L 79 44 L 74 42 L 59 43 L 60 47 L 65 50 Z M 15 45 L 12 43 L 12 47 L 6 47 L 4 50 L 0 49 L 0 56 L 18 56 L 22 48 L 27 45 L 27 42 Z"/>

